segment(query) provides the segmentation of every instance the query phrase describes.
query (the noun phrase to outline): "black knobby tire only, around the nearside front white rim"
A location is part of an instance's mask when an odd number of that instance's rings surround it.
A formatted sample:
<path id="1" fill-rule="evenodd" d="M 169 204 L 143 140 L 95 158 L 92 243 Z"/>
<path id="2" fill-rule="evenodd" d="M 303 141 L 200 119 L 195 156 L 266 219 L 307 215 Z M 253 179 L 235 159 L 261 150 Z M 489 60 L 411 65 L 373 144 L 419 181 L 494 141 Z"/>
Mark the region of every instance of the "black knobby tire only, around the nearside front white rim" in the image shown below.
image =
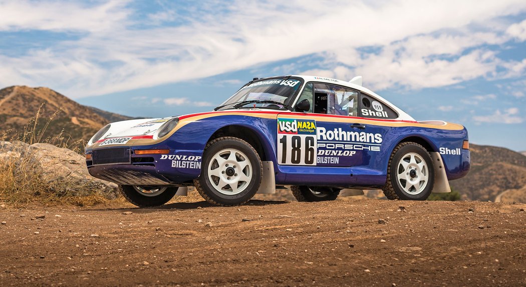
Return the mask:
<path id="1" fill-rule="evenodd" d="M 208 179 L 208 166 L 210 160 L 212 160 L 211 157 L 225 148 L 238 149 L 243 152 L 248 157 L 252 168 L 252 179 L 249 186 L 234 196 L 220 193 L 211 186 L 210 180 Z M 216 206 L 239 206 L 254 197 L 254 194 L 256 194 L 261 185 L 262 178 L 263 166 L 257 151 L 248 142 L 240 138 L 221 137 L 207 143 L 205 152 L 203 153 L 201 175 L 194 179 L 194 186 L 201 197 L 211 204 Z"/>

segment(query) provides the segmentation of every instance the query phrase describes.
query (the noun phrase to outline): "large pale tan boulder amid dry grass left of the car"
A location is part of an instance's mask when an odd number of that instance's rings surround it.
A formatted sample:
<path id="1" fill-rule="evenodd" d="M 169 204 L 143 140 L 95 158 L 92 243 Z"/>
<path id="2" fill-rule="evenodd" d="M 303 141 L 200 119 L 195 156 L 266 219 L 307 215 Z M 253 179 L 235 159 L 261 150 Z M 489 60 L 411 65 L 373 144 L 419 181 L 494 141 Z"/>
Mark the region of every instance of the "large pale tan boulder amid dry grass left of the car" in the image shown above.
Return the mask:
<path id="1" fill-rule="evenodd" d="M 6 158 L 15 158 L 15 165 L 24 164 L 26 168 L 19 172 L 27 174 L 28 166 L 31 175 L 39 177 L 48 190 L 57 194 L 88 196 L 100 192 L 108 199 L 117 198 L 117 185 L 89 175 L 86 158 L 73 150 L 48 143 L 34 143 L 30 146 L 20 141 L 0 141 L 0 161 Z"/>

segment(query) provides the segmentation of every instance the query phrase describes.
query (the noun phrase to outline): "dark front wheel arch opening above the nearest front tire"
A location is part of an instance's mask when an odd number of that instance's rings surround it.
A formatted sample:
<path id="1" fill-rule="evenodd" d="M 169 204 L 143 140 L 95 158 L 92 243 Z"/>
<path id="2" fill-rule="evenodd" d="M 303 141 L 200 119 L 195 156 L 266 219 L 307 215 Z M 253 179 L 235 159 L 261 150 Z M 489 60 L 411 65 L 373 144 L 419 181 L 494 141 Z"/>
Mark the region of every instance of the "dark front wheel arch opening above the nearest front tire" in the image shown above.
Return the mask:
<path id="1" fill-rule="evenodd" d="M 227 125 L 219 128 L 210 136 L 207 142 L 220 137 L 236 137 L 248 142 L 257 151 L 261 161 L 271 160 L 271 151 L 266 147 L 268 145 L 267 140 L 259 132 L 254 130 L 253 127 L 245 125 Z"/>

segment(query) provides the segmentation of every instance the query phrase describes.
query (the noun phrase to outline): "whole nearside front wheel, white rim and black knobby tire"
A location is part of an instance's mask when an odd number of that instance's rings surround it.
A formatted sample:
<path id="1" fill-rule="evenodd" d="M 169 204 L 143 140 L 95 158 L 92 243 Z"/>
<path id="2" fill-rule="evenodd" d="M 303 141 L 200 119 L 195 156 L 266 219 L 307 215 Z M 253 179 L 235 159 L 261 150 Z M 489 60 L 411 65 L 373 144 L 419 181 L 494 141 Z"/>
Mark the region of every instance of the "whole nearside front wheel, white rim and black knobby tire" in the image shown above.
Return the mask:
<path id="1" fill-rule="evenodd" d="M 194 185 L 201 196 L 218 206 L 237 206 L 249 201 L 263 177 L 261 159 L 242 139 L 222 137 L 210 141 L 203 153 L 201 175 Z"/>

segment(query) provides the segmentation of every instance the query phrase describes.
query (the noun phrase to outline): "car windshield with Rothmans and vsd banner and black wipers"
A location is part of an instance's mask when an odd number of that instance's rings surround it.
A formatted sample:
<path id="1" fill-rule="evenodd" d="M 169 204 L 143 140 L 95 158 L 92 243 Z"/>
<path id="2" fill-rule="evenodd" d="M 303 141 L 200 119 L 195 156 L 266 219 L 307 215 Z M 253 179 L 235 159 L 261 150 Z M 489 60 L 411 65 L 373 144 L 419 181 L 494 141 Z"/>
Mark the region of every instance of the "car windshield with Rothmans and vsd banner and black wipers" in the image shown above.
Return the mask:
<path id="1" fill-rule="evenodd" d="M 295 78 L 256 81 L 238 90 L 234 96 L 223 102 L 219 109 L 284 109 L 294 99 L 300 86 L 301 80 Z"/>

